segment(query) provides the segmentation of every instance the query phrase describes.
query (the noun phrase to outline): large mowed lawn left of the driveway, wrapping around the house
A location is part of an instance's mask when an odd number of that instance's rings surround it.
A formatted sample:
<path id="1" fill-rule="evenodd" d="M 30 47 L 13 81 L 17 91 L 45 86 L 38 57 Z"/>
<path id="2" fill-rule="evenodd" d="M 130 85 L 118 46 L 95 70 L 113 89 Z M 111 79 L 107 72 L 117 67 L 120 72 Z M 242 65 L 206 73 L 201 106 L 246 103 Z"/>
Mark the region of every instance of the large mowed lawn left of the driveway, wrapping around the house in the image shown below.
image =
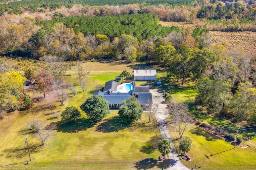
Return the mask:
<path id="1" fill-rule="evenodd" d="M 78 80 L 73 68 L 66 72 L 64 79 L 73 83 L 79 91 L 72 95 L 68 91 L 69 99 L 64 106 L 59 106 L 55 91 L 42 94 L 36 93 L 37 99 L 31 110 L 15 111 L 0 120 L 0 169 L 139 169 L 148 164 L 138 164 L 142 160 L 154 160 L 150 163 L 153 169 L 162 168 L 159 164 L 157 149 L 148 151 L 146 146 L 152 137 L 161 136 L 156 119 L 151 117 L 148 123 L 148 113 L 143 113 L 142 119 L 131 125 L 120 123 L 117 111 L 111 111 L 102 122 L 92 125 L 80 106 L 92 95 L 93 87 L 105 81 L 114 79 L 121 71 L 143 67 L 141 63 L 88 62 L 84 67 L 90 67 L 91 73 L 86 77 L 86 91 L 83 93 L 78 86 Z M 32 94 L 28 92 L 28 94 Z M 56 105 L 57 103 L 57 105 Z M 79 108 L 82 113 L 76 122 L 60 123 L 60 118 L 54 119 L 54 113 L 61 112 L 68 106 Z M 40 118 L 45 125 L 57 123 L 54 130 L 43 146 L 37 134 L 29 133 L 31 162 L 26 150 L 26 123 L 31 119 Z M 25 162 L 24 162 L 25 161 Z M 22 162 L 22 163 L 20 163 Z M 15 164 L 18 163 L 18 164 Z M 7 166 L 6 166 L 7 165 Z"/>

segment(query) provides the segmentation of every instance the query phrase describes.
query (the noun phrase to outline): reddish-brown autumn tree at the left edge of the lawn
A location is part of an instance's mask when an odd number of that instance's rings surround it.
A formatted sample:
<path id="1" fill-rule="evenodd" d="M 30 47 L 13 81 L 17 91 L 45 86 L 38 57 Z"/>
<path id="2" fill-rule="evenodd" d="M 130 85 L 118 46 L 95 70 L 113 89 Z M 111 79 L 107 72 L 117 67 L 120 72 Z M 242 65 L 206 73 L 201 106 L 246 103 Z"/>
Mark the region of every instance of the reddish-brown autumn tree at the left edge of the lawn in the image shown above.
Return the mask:
<path id="1" fill-rule="evenodd" d="M 45 98 L 45 93 L 47 91 L 49 91 L 50 89 L 50 85 L 53 81 L 53 77 L 52 75 L 50 75 L 49 73 L 47 73 L 45 70 L 41 70 L 41 71 L 38 71 L 38 74 L 37 74 L 37 86 L 38 86 L 38 91 L 40 93 L 44 93 L 44 98 Z"/>

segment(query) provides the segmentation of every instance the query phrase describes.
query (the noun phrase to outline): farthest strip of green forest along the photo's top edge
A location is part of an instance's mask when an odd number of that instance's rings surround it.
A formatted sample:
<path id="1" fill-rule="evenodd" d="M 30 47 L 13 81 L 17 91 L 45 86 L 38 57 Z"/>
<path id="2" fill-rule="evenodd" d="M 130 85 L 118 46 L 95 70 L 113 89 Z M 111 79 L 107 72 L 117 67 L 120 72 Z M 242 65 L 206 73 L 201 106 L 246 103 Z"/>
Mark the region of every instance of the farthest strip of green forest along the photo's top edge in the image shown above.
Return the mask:
<path id="1" fill-rule="evenodd" d="M 90 5 L 90 6 L 101 6 L 101 5 L 111 5 L 111 6 L 122 6 L 126 4 L 140 4 L 141 6 L 157 6 L 159 4 L 165 4 L 166 6 L 180 6 L 181 4 L 187 6 L 193 6 L 196 3 L 195 0 L 25 0 L 25 1 L 13 1 L 9 3 L 2 3 L 0 6 L 0 15 L 4 12 L 9 14 L 22 14 L 25 11 L 30 12 L 43 12 L 41 9 L 51 9 L 61 8 L 65 6 L 66 8 L 72 8 L 73 4 Z M 24 10 L 23 10 L 24 9 Z"/>

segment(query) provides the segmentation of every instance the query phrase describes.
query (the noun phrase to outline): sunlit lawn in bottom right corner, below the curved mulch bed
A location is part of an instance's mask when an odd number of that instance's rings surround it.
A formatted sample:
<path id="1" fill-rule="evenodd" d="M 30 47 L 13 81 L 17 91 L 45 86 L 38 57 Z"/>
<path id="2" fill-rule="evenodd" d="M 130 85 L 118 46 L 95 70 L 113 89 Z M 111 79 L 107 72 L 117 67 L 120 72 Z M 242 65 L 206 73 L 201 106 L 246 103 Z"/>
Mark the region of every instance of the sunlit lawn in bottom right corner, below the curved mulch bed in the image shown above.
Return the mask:
<path id="1" fill-rule="evenodd" d="M 168 128 L 170 129 L 171 136 L 178 138 L 174 127 L 169 125 Z M 183 138 L 188 138 L 192 142 L 191 150 L 187 153 L 192 161 L 182 160 L 182 163 L 188 168 L 194 168 L 195 164 L 202 166 L 202 169 L 214 170 L 249 170 L 256 167 L 256 162 L 254 161 L 256 152 L 251 147 L 240 148 L 236 146 L 234 149 L 230 142 L 226 142 L 222 138 L 192 124 L 189 125 Z M 180 141 L 181 139 L 174 140 L 176 148 L 178 148 Z"/>

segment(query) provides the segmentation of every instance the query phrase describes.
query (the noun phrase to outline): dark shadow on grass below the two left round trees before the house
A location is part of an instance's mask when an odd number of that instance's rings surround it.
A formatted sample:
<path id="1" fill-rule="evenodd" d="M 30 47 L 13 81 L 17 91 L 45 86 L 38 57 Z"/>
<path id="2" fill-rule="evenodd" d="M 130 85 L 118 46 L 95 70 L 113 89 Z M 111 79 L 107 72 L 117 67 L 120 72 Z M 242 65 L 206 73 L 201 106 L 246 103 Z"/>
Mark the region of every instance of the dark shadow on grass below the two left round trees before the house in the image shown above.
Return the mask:
<path id="1" fill-rule="evenodd" d="M 76 133 L 81 130 L 86 130 L 87 128 L 93 127 L 94 123 L 90 119 L 79 118 L 73 122 L 66 122 L 57 124 L 58 132 Z"/>

